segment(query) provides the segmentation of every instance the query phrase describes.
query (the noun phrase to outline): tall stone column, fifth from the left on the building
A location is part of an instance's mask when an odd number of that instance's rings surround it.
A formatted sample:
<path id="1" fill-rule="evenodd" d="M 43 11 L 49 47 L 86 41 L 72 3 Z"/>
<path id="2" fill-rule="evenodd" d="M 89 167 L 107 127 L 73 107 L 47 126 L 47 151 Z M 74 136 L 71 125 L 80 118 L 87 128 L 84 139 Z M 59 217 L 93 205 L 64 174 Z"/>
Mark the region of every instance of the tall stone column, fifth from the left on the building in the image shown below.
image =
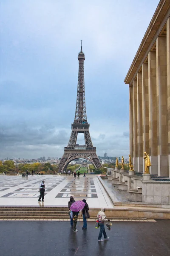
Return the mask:
<path id="1" fill-rule="evenodd" d="M 156 51 L 148 54 L 148 95 L 149 95 L 149 154 L 151 174 L 158 174 L 157 153 L 157 108 L 156 108 Z"/>

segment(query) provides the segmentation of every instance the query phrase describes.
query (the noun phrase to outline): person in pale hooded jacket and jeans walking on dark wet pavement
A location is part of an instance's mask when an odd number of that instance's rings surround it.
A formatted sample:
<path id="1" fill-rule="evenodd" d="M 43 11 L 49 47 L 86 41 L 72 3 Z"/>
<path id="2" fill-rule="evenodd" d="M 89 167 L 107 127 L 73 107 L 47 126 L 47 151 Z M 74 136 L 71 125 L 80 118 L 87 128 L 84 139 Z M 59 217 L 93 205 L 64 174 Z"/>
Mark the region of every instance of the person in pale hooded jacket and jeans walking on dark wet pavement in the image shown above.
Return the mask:
<path id="1" fill-rule="evenodd" d="M 110 221 L 109 219 L 106 218 L 105 215 L 105 208 L 101 208 L 101 211 L 99 211 L 97 213 L 97 219 L 99 221 L 99 226 L 100 226 L 100 232 L 99 232 L 99 236 L 98 236 L 98 241 L 104 241 L 104 239 L 109 239 L 109 236 L 106 235 L 105 232 L 105 221 Z M 104 239 L 102 239 L 102 234 L 104 236 Z"/>

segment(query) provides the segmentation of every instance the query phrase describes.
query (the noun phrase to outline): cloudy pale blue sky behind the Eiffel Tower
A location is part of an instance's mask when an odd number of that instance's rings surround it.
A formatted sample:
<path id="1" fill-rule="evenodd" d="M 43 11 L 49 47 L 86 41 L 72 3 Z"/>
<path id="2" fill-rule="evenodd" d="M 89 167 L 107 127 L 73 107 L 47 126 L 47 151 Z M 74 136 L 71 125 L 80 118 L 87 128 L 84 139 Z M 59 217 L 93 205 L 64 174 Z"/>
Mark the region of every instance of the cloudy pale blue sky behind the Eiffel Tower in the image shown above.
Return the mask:
<path id="1" fill-rule="evenodd" d="M 62 157 L 74 121 L 80 40 L 93 145 L 99 156 L 127 157 L 124 79 L 158 3 L 1 0 L 0 159 Z"/>

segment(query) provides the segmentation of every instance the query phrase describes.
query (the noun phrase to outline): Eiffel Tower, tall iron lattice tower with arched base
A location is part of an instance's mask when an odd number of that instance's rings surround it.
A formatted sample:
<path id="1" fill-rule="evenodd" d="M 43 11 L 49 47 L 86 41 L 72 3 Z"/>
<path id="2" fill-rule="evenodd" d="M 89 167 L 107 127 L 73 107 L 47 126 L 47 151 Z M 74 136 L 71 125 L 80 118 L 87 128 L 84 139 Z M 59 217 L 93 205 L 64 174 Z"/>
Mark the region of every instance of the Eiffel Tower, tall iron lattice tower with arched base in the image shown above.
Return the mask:
<path id="1" fill-rule="evenodd" d="M 78 55 L 79 61 L 79 75 L 78 75 L 78 86 L 77 86 L 77 103 L 74 123 L 71 125 L 71 136 L 68 142 L 68 146 L 64 148 L 64 154 L 59 161 L 58 171 L 63 172 L 68 163 L 77 158 L 84 158 L 89 160 L 95 168 L 101 168 L 102 165 L 99 158 L 96 155 L 96 148 L 93 146 L 89 126 L 87 122 L 86 108 L 85 108 L 85 78 L 84 78 L 84 61 L 85 54 L 82 52 L 82 41 L 81 51 Z M 77 143 L 78 133 L 83 133 L 85 138 L 85 145 L 79 145 Z"/>

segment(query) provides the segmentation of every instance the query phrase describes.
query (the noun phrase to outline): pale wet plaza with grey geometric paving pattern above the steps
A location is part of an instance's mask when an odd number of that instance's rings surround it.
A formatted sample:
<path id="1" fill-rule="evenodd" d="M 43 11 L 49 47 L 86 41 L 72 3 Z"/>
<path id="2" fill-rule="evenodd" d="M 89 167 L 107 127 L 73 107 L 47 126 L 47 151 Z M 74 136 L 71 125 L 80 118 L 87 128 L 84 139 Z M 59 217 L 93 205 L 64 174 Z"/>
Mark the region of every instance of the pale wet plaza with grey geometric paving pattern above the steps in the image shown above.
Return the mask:
<path id="1" fill-rule="evenodd" d="M 39 186 L 42 180 L 45 180 L 44 206 L 68 206 L 72 195 L 75 200 L 86 199 L 91 208 L 113 207 L 95 175 L 79 178 L 72 175 L 0 175 L 0 206 L 39 206 Z"/>

